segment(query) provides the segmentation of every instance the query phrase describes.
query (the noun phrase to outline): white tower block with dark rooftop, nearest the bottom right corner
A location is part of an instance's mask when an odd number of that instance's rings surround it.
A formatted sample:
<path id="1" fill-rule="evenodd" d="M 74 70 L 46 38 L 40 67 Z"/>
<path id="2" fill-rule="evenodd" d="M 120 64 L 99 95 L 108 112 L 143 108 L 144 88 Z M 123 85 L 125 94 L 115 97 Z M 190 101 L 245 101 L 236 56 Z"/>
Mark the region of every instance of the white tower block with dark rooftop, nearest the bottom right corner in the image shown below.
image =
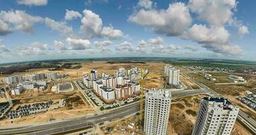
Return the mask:
<path id="1" fill-rule="evenodd" d="M 239 108 L 228 99 L 204 97 L 201 99 L 192 135 L 229 135 L 238 111 Z"/>

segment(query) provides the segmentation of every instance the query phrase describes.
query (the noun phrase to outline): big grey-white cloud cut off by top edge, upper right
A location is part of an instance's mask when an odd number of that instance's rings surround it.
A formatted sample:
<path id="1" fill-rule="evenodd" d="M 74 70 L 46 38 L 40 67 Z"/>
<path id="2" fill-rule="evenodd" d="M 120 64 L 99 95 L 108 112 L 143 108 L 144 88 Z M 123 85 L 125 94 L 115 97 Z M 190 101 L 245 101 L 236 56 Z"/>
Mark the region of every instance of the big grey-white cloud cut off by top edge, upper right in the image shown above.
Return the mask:
<path id="1" fill-rule="evenodd" d="M 205 20 L 213 26 L 223 26 L 232 20 L 236 10 L 236 0 L 190 0 L 190 11 L 198 14 L 200 20 Z"/>

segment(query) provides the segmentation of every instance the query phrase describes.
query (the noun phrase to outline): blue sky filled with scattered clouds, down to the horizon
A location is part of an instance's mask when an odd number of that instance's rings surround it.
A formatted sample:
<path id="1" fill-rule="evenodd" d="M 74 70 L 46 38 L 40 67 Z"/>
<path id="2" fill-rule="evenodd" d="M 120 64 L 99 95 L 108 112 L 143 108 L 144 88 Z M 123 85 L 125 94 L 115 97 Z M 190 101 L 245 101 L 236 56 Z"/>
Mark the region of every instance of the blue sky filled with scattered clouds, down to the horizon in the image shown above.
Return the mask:
<path id="1" fill-rule="evenodd" d="M 0 0 L 0 63 L 98 57 L 256 61 L 256 1 Z"/>

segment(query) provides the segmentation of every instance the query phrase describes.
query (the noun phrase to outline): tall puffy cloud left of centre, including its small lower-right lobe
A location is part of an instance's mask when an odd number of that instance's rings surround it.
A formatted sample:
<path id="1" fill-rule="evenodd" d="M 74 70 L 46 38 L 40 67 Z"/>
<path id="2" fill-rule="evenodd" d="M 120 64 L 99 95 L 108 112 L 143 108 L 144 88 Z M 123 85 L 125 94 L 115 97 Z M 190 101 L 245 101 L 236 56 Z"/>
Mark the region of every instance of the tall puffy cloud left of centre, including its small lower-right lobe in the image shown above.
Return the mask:
<path id="1" fill-rule="evenodd" d="M 84 9 L 84 16 L 81 19 L 82 25 L 80 32 L 86 34 L 86 38 L 107 37 L 110 39 L 122 38 L 124 36 L 121 30 L 114 29 L 113 26 L 103 27 L 102 20 L 98 14 L 93 11 Z"/>

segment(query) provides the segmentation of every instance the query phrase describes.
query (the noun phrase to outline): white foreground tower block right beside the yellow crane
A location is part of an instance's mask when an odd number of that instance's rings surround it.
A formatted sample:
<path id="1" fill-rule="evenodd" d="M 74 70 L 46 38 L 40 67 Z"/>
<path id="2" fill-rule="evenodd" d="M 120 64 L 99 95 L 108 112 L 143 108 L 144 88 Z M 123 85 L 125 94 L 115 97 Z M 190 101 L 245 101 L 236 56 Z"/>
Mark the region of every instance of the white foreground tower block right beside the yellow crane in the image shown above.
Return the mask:
<path id="1" fill-rule="evenodd" d="M 145 92 L 144 132 L 150 135 L 167 134 L 172 94 L 167 90 Z"/>

